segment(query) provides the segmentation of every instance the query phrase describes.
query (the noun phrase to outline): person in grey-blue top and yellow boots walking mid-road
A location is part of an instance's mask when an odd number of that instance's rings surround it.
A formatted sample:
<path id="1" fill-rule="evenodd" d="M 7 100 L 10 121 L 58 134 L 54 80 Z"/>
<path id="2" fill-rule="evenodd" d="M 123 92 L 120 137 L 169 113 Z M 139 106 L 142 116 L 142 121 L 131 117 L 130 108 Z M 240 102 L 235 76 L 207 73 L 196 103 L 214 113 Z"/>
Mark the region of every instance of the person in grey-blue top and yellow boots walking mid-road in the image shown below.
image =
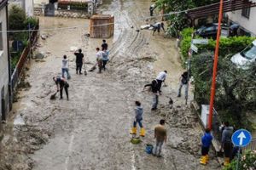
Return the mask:
<path id="1" fill-rule="evenodd" d="M 135 108 L 135 119 L 133 122 L 133 127 L 131 128 L 131 134 L 137 134 L 137 123 L 141 127 L 140 136 L 145 136 L 145 128 L 143 127 L 143 107 L 141 106 L 141 102 L 136 101 L 135 102 L 136 108 Z"/>

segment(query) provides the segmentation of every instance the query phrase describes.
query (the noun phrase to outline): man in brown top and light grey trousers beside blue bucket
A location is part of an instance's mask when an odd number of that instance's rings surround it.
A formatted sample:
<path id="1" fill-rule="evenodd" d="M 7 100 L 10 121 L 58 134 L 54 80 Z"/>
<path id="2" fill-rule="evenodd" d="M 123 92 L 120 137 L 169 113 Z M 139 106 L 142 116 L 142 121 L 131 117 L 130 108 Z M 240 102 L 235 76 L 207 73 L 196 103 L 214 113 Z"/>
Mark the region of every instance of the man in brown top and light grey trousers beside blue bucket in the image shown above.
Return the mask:
<path id="1" fill-rule="evenodd" d="M 166 121 L 161 119 L 160 124 L 154 127 L 154 138 L 156 139 L 156 143 L 152 151 L 153 156 L 158 156 L 158 157 L 161 156 L 160 154 L 161 154 L 162 146 L 167 139 L 165 124 L 166 124 Z"/>

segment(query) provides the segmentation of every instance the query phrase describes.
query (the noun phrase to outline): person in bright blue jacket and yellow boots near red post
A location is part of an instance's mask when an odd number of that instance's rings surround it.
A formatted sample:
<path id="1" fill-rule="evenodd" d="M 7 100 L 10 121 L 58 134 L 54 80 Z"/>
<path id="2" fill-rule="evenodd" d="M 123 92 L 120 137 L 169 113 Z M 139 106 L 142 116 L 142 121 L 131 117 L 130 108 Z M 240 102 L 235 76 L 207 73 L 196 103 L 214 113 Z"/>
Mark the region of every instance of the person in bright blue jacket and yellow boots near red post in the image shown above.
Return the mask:
<path id="1" fill-rule="evenodd" d="M 206 133 L 201 137 L 201 161 L 202 165 L 206 165 L 209 161 L 209 150 L 212 144 L 212 134 L 209 128 L 206 129 Z"/>

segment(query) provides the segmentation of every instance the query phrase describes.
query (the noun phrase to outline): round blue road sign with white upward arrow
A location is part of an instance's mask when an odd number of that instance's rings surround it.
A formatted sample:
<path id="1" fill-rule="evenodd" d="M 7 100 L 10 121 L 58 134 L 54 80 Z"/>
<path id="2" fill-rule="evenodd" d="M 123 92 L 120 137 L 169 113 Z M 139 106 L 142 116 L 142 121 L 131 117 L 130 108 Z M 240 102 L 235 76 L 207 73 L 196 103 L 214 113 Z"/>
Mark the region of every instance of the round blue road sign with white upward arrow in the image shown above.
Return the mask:
<path id="1" fill-rule="evenodd" d="M 252 135 L 245 129 L 239 129 L 232 135 L 232 142 L 236 146 L 244 147 L 252 140 Z"/>

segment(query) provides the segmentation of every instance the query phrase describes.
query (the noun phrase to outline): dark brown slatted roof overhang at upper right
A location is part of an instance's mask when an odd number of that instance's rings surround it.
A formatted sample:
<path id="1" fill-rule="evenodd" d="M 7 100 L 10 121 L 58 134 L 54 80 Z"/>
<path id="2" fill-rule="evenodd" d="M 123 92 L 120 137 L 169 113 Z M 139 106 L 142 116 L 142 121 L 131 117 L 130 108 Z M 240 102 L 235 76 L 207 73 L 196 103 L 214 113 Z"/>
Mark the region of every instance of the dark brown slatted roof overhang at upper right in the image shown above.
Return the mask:
<path id="1" fill-rule="evenodd" d="M 256 7 L 256 3 L 252 0 L 224 0 L 223 3 L 224 13 L 230 11 L 236 11 L 242 8 Z M 205 17 L 207 15 L 218 14 L 219 3 L 213 3 L 201 8 L 195 8 L 189 10 L 188 16 L 190 19 L 195 20 L 197 18 Z"/>

